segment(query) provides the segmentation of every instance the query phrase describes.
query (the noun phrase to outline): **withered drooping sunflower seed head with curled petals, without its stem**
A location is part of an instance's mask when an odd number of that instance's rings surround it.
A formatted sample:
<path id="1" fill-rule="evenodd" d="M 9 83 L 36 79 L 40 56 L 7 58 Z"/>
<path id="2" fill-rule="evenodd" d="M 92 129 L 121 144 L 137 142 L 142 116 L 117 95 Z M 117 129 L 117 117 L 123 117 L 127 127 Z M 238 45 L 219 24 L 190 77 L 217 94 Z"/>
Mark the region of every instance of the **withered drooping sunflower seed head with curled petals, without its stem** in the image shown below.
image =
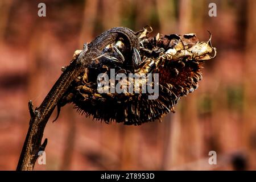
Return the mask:
<path id="1" fill-rule="evenodd" d="M 126 46 L 122 39 L 107 46 L 102 56 L 93 60 L 84 73 L 73 81 L 58 109 L 73 103 L 86 117 L 92 115 L 106 123 L 116 121 L 125 125 L 141 125 L 174 113 L 177 101 L 198 88 L 203 63 L 216 56 L 216 48 L 211 45 L 211 36 L 208 42 L 199 42 L 195 34 L 157 34 L 150 37 L 148 34 L 151 31 L 151 27 L 145 27 L 137 33 L 140 48 L 134 49 L 132 60 L 125 60 L 122 55 Z M 105 73 L 110 78 L 110 69 L 127 77 L 129 73 L 159 73 L 159 83 L 155 83 L 159 84 L 159 97 L 149 100 L 149 93 L 142 93 L 142 87 L 137 87 L 137 93 L 98 93 L 97 86 L 101 80 L 97 80 L 97 76 Z M 109 81 L 114 86 L 119 83 L 126 88 L 129 84 L 147 84 L 148 77 L 140 81 L 129 77 L 127 80 Z M 109 90 L 110 86 L 105 85 L 102 89 Z"/>

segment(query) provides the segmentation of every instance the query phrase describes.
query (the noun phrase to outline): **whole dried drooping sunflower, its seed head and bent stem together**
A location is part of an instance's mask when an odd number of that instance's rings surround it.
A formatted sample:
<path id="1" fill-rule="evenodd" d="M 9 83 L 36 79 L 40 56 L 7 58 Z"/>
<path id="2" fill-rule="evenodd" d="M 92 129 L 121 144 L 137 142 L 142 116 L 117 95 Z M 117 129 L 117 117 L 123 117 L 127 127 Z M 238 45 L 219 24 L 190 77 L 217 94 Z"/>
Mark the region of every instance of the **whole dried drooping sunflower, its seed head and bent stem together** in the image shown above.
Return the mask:
<path id="1" fill-rule="evenodd" d="M 20 154 L 18 170 L 32 170 L 38 152 L 43 151 L 47 139 L 42 143 L 44 127 L 53 110 L 68 103 L 86 116 L 106 123 L 123 122 L 125 125 L 141 125 L 161 119 L 164 114 L 174 112 L 180 97 L 197 89 L 202 79 L 201 68 L 205 60 L 216 56 L 216 49 L 208 42 L 199 42 L 195 34 L 148 36 L 151 27 L 133 32 L 129 28 L 117 27 L 105 31 L 84 50 L 75 51 L 68 67 L 39 107 L 34 110 L 29 102 L 30 127 Z M 141 79 L 112 78 L 122 73 Z M 110 76 L 110 85 L 101 90 L 111 90 L 112 85 L 120 88 L 133 85 L 134 92 L 99 92 L 102 80 L 98 75 Z M 159 78 L 159 79 L 158 79 Z M 151 79 L 151 82 L 148 80 Z M 149 99 L 151 92 L 143 92 L 143 85 L 157 87 L 158 97 Z"/>

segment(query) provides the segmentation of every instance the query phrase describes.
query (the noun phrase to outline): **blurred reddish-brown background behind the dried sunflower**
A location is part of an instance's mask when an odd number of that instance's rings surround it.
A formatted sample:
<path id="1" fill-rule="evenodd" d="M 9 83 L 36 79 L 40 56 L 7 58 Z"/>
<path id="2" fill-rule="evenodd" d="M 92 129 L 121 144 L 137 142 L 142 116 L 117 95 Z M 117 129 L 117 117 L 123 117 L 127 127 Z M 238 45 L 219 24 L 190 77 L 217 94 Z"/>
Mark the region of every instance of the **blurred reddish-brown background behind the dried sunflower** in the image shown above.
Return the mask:
<path id="1" fill-rule="evenodd" d="M 46 3 L 46 17 L 38 4 Z M 217 17 L 210 17 L 209 3 Z M 47 123 L 46 165 L 36 170 L 256 169 L 256 1 L 0 1 L 0 169 L 14 170 L 28 130 L 28 100 L 39 106 L 68 65 L 101 32 L 146 25 L 162 34 L 212 32 L 216 59 L 175 114 L 142 126 L 92 121 L 63 107 Z M 208 163 L 217 152 L 217 165 Z"/>

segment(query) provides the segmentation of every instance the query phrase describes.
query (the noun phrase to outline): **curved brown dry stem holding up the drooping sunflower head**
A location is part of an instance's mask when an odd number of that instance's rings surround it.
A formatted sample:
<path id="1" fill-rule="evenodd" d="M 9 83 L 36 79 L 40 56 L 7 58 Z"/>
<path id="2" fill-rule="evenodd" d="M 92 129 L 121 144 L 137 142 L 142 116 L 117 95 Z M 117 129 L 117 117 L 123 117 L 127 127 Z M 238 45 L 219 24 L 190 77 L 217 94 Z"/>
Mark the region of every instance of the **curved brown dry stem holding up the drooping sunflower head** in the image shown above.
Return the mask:
<path id="1" fill-rule="evenodd" d="M 129 28 L 112 28 L 97 36 L 93 42 L 88 44 L 88 47 L 80 53 L 79 57 L 67 67 L 66 71 L 56 81 L 39 107 L 34 110 L 32 101 L 28 102 L 31 117 L 30 126 L 16 170 L 32 170 L 34 168 L 38 152 L 43 151 L 46 147 L 47 139 L 42 144 L 43 132 L 57 102 L 63 97 L 71 82 L 80 75 L 90 61 L 100 56 L 101 50 L 118 38 L 123 38 L 128 48 L 127 56 L 131 56 L 133 47 L 139 47 L 137 36 Z"/>

